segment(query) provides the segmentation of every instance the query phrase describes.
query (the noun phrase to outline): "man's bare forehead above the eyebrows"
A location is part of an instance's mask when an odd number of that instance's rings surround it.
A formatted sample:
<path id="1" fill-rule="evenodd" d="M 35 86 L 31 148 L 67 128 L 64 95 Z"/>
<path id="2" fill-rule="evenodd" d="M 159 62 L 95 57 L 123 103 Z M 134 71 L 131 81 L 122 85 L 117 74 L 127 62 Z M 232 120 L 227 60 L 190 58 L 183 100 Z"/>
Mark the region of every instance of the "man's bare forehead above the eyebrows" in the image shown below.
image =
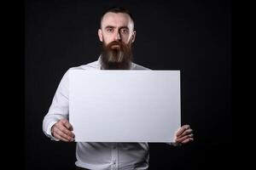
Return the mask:
<path id="1" fill-rule="evenodd" d="M 102 27 L 105 26 L 128 26 L 133 28 L 133 21 L 129 14 L 109 12 L 104 14 L 102 18 Z"/>

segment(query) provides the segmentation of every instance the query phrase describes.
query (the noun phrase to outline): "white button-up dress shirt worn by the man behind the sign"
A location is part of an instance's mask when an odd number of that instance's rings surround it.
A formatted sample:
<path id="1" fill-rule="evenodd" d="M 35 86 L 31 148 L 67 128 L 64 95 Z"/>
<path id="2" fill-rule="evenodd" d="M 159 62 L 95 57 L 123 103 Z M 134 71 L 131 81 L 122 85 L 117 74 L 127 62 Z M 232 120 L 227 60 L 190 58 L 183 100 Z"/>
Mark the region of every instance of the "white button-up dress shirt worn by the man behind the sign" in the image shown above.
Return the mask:
<path id="1" fill-rule="evenodd" d="M 70 68 L 69 70 L 101 70 L 99 59 L 87 65 Z M 131 70 L 148 69 L 132 63 Z M 51 135 L 51 127 L 62 118 L 67 118 L 68 120 L 68 71 L 61 79 L 52 104 L 49 107 L 49 112 L 44 116 L 43 131 L 50 139 L 54 140 L 58 139 Z M 76 166 L 93 170 L 148 169 L 149 150 L 147 143 L 78 142 L 76 157 Z"/>

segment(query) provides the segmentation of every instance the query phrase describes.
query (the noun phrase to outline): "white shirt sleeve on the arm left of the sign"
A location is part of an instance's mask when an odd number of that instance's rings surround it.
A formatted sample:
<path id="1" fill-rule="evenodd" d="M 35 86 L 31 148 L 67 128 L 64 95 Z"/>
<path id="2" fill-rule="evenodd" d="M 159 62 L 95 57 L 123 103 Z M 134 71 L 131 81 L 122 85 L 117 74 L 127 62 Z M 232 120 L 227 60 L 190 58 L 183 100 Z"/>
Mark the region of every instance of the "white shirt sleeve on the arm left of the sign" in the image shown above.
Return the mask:
<path id="1" fill-rule="evenodd" d="M 61 82 L 55 92 L 55 96 L 49 107 L 48 113 L 44 116 L 43 132 L 50 139 L 58 141 L 51 134 L 51 127 L 59 120 L 66 118 L 68 120 L 68 72 L 61 78 Z"/>

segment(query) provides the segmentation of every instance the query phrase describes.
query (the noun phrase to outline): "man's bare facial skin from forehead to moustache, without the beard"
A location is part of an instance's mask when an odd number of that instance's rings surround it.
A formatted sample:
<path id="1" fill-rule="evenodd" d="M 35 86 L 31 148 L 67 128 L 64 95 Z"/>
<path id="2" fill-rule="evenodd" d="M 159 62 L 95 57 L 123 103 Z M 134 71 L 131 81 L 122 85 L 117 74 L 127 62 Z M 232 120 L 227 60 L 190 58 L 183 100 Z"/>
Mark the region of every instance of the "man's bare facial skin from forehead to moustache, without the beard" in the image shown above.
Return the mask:
<path id="1" fill-rule="evenodd" d="M 136 31 L 133 30 L 133 27 L 134 24 L 129 14 L 109 12 L 102 18 L 98 36 L 105 46 L 113 41 L 122 41 L 125 44 L 129 44 L 134 42 L 136 36 Z"/>

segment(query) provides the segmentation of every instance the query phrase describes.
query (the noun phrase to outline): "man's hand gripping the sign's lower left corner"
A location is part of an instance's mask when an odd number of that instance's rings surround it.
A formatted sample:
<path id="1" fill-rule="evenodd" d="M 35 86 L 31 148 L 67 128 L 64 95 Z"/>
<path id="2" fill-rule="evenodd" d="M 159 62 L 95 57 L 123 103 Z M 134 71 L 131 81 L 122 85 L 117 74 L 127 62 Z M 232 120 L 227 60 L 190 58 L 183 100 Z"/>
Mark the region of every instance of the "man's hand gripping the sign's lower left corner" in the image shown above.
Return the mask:
<path id="1" fill-rule="evenodd" d="M 67 119 L 61 119 L 56 122 L 51 127 L 51 133 L 56 139 L 60 139 L 64 142 L 73 142 L 74 134 L 71 132 L 73 130 L 72 125 L 67 121 Z"/>

